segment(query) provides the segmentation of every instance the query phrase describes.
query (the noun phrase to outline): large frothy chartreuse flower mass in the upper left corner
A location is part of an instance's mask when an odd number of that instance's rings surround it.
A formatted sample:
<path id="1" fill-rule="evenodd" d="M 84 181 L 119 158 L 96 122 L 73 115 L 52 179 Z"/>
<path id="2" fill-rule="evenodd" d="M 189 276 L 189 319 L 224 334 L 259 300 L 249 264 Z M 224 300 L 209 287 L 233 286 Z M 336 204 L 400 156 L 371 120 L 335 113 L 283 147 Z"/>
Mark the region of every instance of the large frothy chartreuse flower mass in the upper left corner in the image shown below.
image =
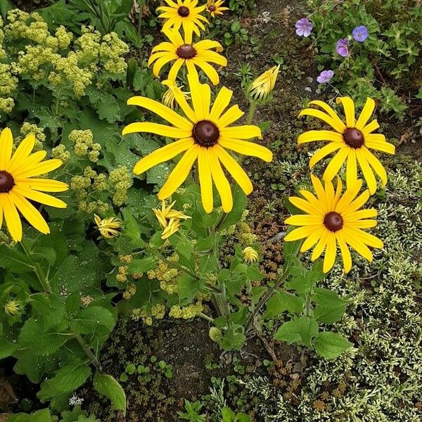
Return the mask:
<path id="1" fill-rule="evenodd" d="M 60 93 L 60 100 L 70 93 L 79 98 L 100 71 L 110 77 L 124 75 L 128 51 L 113 32 L 102 36 L 93 27 L 82 27 L 74 39 L 63 26 L 51 32 L 37 12 L 9 11 L 6 25 L 0 18 L 0 60 L 6 59 L 0 63 L 0 111 L 13 110 L 19 80 L 44 85 Z"/>

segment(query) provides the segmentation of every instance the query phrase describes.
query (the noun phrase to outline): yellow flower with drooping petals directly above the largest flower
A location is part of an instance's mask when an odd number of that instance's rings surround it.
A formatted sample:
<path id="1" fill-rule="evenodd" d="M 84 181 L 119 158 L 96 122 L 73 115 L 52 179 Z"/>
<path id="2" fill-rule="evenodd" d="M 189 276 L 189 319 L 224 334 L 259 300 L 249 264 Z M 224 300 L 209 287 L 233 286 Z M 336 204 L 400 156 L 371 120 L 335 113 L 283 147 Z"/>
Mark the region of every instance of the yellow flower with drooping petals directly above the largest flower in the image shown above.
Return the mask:
<path id="1" fill-rule="evenodd" d="M 174 81 L 182 65 L 186 65 L 188 74 L 198 75 L 196 66 L 205 72 L 210 81 L 219 84 L 219 76 L 210 63 L 226 66 L 227 59 L 216 51 L 223 51 L 222 45 L 217 41 L 203 39 L 192 44 L 192 34 L 185 35 L 184 39 L 177 30 L 163 29 L 170 42 L 162 42 L 153 48 L 148 66 L 155 61 L 153 73 L 156 77 L 160 74 L 162 66 L 175 60 L 170 69 L 168 79 Z M 213 51 L 215 49 L 216 51 Z"/>

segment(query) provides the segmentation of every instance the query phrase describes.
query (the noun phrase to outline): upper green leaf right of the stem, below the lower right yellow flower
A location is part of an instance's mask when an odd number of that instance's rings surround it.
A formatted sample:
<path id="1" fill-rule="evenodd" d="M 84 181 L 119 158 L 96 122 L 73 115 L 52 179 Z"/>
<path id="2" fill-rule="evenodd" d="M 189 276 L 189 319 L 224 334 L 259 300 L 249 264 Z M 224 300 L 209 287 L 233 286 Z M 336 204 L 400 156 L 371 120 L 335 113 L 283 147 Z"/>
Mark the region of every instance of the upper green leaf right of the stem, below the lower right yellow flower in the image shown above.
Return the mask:
<path id="1" fill-rule="evenodd" d="M 314 317 L 316 321 L 333 324 L 345 313 L 347 302 L 338 297 L 333 290 L 315 288 L 312 299 L 316 302 Z"/>

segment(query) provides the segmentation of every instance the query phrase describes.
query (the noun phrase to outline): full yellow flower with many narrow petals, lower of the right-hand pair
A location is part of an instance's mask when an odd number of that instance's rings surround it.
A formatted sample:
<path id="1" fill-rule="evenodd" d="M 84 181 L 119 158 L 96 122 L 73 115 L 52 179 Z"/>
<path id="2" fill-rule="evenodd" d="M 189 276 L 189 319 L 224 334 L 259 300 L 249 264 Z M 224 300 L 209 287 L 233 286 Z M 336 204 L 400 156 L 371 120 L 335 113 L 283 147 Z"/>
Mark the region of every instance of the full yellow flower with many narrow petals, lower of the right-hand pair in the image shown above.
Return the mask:
<path id="1" fill-rule="evenodd" d="M 312 176 L 312 184 L 316 197 L 309 191 L 300 193 L 305 198 L 290 197 L 293 205 L 305 211 L 306 214 L 293 215 L 286 219 L 286 224 L 301 226 L 286 235 L 286 241 L 297 241 L 306 238 L 301 252 L 309 250 L 314 245 L 312 260 L 316 260 L 325 250 L 324 272 L 328 272 L 334 264 L 337 245 L 343 256 L 345 272 L 352 268 L 352 258 L 348 246 L 356 250 L 366 260 L 372 261 L 371 248 L 383 248 L 383 242 L 366 233 L 362 229 L 376 226 L 377 212 L 374 208 L 359 210 L 369 199 L 369 191 L 364 191 L 357 198 L 362 188 L 362 180 L 357 180 L 351 188 L 347 188 L 342 196 L 343 184 L 338 178 L 337 190 L 331 181 L 325 181 L 325 187 L 319 179 Z"/>

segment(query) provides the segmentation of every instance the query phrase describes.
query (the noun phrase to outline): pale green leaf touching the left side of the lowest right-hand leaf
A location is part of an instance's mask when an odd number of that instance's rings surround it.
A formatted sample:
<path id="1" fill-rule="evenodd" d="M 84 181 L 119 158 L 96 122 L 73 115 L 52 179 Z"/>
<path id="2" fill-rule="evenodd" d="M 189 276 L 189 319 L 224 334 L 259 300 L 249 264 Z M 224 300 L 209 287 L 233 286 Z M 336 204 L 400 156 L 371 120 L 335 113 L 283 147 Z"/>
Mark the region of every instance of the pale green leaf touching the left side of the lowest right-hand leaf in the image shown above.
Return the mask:
<path id="1" fill-rule="evenodd" d="M 274 334 L 275 340 L 283 340 L 288 344 L 311 345 L 311 340 L 318 334 L 318 323 L 311 316 L 285 322 Z"/>

